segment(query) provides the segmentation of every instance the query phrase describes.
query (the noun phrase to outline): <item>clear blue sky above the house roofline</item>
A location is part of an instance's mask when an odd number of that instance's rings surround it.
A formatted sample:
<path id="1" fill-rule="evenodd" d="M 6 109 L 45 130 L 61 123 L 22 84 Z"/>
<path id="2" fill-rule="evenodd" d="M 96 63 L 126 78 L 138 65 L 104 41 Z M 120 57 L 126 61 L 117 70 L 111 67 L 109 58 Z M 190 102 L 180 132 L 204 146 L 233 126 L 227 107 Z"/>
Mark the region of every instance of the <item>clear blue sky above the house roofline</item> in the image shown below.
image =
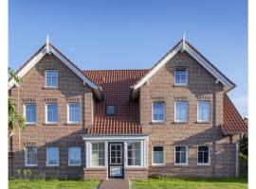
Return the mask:
<path id="1" fill-rule="evenodd" d="M 9 0 L 9 66 L 50 41 L 82 69 L 150 68 L 187 40 L 237 87 L 247 116 L 247 1 Z"/>

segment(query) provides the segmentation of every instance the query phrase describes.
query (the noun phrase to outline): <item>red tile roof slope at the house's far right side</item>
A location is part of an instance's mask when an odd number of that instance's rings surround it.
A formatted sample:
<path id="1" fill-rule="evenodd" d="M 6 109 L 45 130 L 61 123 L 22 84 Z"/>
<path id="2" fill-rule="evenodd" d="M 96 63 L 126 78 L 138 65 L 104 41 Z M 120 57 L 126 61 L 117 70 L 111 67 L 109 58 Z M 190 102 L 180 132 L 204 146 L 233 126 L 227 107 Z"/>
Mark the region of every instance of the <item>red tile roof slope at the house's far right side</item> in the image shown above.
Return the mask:
<path id="1" fill-rule="evenodd" d="M 227 94 L 223 98 L 223 122 L 221 129 L 224 135 L 247 133 L 247 124 Z"/>

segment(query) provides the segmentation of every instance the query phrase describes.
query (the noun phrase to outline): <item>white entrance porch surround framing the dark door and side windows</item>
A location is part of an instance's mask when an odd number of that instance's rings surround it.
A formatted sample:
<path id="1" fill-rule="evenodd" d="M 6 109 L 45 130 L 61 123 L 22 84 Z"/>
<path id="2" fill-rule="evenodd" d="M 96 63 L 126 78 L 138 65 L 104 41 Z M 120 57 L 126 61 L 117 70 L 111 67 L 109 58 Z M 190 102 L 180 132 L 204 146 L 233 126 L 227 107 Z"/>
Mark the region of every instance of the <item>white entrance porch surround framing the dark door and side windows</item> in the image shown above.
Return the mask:
<path id="1" fill-rule="evenodd" d="M 123 142 L 124 144 L 124 168 L 148 167 L 148 134 L 133 134 L 133 135 L 82 135 L 85 147 L 85 168 L 106 168 L 108 169 L 108 143 L 109 142 Z M 128 165 L 127 163 L 127 143 L 140 142 L 140 165 Z M 104 143 L 104 165 L 93 166 L 91 163 L 92 157 L 92 144 Z M 108 170 L 107 170 L 108 171 Z M 124 173 L 125 174 L 125 173 Z"/>

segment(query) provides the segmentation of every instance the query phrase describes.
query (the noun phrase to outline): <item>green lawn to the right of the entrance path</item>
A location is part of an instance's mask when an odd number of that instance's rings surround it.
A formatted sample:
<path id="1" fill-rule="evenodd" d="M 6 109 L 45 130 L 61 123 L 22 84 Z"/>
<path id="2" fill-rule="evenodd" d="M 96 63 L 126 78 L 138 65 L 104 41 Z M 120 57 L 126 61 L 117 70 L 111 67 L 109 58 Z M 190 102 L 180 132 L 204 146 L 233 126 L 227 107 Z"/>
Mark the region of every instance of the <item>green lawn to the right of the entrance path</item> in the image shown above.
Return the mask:
<path id="1" fill-rule="evenodd" d="M 133 181 L 132 189 L 243 189 L 247 188 L 247 178 L 243 179 L 149 179 Z"/>

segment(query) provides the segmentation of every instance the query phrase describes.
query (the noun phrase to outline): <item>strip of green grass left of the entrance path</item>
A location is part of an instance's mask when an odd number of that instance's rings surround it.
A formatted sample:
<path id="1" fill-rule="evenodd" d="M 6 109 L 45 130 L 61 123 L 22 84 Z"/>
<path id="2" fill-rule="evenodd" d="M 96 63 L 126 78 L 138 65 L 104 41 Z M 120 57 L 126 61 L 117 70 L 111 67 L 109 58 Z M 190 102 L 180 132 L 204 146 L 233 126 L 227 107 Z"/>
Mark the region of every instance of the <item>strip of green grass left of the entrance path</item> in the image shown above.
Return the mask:
<path id="1" fill-rule="evenodd" d="M 98 180 L 9 180 L 9 189 L 95 189 Z"/>

